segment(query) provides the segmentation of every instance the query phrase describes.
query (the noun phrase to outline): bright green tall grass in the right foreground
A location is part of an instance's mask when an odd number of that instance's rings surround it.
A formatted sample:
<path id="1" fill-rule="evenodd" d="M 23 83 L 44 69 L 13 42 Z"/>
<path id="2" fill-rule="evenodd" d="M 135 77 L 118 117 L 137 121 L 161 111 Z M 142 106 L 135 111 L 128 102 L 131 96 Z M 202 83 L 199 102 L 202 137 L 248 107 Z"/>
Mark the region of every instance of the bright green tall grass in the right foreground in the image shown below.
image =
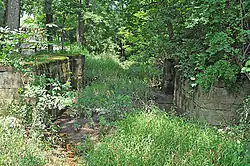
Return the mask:
<path id="1" fill-rule="evenodd" d="M 87 165 L 239 165 L 250 162 L 249 142 L 158 111 L 117 123 L 86 156 Z"/>

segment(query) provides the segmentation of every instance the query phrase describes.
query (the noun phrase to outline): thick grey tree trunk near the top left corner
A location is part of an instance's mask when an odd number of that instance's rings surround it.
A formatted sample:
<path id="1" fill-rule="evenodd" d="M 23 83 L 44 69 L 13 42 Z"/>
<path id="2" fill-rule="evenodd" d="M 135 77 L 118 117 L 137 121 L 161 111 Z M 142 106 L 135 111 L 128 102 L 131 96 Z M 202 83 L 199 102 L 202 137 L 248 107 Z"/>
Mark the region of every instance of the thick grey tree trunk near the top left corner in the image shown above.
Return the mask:
<path id="1" fill-rule="evenodd" d="M 7 26 L 10 30 L 20 27 L 20 0 L 8 0 Z"/>

